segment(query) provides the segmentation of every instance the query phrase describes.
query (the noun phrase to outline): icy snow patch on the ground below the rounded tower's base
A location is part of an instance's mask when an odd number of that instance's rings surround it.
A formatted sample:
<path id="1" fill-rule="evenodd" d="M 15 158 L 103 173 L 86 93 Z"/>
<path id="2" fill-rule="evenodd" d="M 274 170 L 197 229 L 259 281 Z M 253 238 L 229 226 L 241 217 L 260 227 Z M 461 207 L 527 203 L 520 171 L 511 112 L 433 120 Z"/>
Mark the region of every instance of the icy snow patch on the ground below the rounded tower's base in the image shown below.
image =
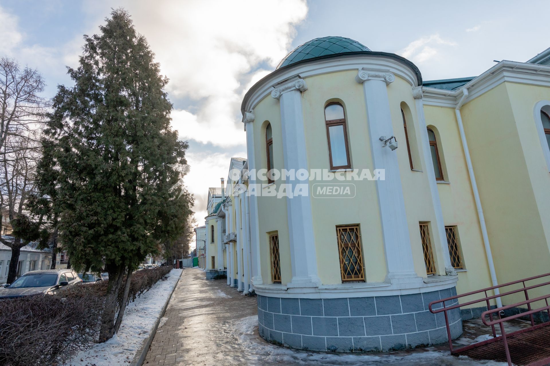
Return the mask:
<path id="1" fill-rule="evenodd" d="M 252 360 L 249 364 L 293 364 L 293 365 L 346 365 L 346 366 L 383 366 L 383 365 L 414 365 L 414 366 L 506 366 L 506 363 L 493 361 L 475 361 L 470 358 L 451 356 L 448 351 L 426 351 L 412 354 L 353 354 L 324 353 L 312 351 L 290 350 L 289 348 L 266 344 L 251 339 L 246 334 L 254 333 L 258 317 L 251 316 L 233 322 L 233 334 L 240 341 L 241 352 L 248 353 Z M 479 337 L 481 338 L 481 337 Z"/>

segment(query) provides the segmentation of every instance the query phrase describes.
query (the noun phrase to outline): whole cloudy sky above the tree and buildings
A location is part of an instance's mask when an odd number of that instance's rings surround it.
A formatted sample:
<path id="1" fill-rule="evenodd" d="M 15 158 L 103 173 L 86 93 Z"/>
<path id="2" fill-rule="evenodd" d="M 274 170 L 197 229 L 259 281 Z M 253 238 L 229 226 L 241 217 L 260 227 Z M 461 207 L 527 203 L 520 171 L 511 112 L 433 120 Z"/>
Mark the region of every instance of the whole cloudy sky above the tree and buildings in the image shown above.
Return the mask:
<path id="1" fill-rule="evenodd" d="M 475 76 L 493 60 L 526 61 L 550 47 L 550 2 L 530 1 L 0 1 L 0 56 L 39 69 L 45 97 L 72 86 L 84 34 L 111 8 L 126 8 L 145 35 L 174 104 L 173 127 L 189 140 L 195 217 L 208 187 L 227 177 L 229 158 L 246 157 L 240 102 L 293 48 L 312 38 L 353 38 L 412 60 L 424 80 Z"/>

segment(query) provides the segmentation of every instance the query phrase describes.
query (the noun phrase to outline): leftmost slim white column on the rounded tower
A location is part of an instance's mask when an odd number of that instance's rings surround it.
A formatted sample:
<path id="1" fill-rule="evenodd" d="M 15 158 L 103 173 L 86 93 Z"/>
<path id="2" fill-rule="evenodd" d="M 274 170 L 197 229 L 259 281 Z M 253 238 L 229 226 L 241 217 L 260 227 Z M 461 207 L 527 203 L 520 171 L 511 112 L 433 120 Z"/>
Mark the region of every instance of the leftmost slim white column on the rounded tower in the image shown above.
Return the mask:
<path id="1" fill-rule="evenodd" d="M 243 115 L 243 122 L 246 131 L 246 156 L 248 162 L 248 170 L 255 172 L 256 164 L 254 157 L 254 113 L 246 111 Z M 251 174 L 249 178 L 249 187 L 256 184 L 256 174 Z M 247 195 L 248 196 L 248 195 Z M 261 270 L 261 255 L 260 255 L 260 228 L 258 223 L 258 200 L 255 195 L 249 196 L 250 210 L 250 245 L 252 255 L 252 285 L 261 285 L 262 270 Z"/>

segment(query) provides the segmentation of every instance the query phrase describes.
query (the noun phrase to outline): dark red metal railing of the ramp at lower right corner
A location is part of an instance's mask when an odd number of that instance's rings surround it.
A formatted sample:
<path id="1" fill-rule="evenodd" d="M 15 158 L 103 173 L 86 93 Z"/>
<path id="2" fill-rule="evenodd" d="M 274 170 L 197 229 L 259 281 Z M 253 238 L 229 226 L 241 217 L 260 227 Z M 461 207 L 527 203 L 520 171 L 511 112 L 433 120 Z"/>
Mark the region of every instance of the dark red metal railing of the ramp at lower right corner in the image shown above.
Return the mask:
<path id="1" fill-rule="evenodd" d="M 430 304 L 428 305 L 428 308 L 430 309 L 430 311 L 432 313 L 436 314 L 436 313 L 444 312 L 445 326 L 447 327 L 447 336 L 448 336 L 448 339 L 449 339 L 449 349 L 450 349 L 451 354 L 464 352 L 464 351 L 470 350 L 472 348 L 481 347 L 483 345 L 490 344 L 492 342 L 502 341 L 503 345 L 504 345 L 504 351 L 505 351 L 505 354 L 506 354 L 506 359 L 508 361 L 508 365 L 512 366 L 513 364 L 511 362 L 511 358 L 510 358 L 510 350 L 509 350 L 509 347 L 508 347 L 507 337 L 510 337 L 510 336 L 516 335 L 516 334 L 520 334 L 520 333 L 526 333 L 528 331 L 536 330 L 536 329 L 542 328 L 543 326 L 550 325 L 550 322 L 535 325 L 535 320 L 533 319 L 533 314 L 539 313 L 539 312 L 544 312 L 544 311 L 548 312 L 548 317 L 550 318 L 550 306 L 548 305 L 548 299 L 550 299 L 550 294 L 543 295 L 543 296 L 538 296 L 535 299 L 530 299 L 529 298 L 529 290 L 540 288 L 540 287 L 546 286 L 546 285 L 550 285 L 550 281 L 546 281 L 546 282 L 543 282 L 543 283 L 540 283 L 540 284 L 535 284 L 535 285 L 530 285 L 530 286 L 526 286 L 526 284 L 525 284 L 527 281 L 540 279 L 540 278 L 543 278 L 543 277 L 550 277 L 550 273 L 541 274 L 541 275 L 533 276 L 533 277 L 529 277 L 529 278 L 524 278 L 524 279 L 520 279 L 520 280 L 517 280 L 517 281 L 508 282 L 508 283 L 505 283 L 505 284 L 502 284 L 502 285 L 492 286 L 492 287 L 488 287 L 486 289 L 471 291 L 471 292 L 467 292 L 466 294 L 455 295 L 455 296 L 447 297 L 446 299 L 435 300 L 435 301 L 430 302 Z M 510 286 L 510 285 L 515 285 L 515 284 L 521 284 L 522 288 L 516 289 L 516 290 L 510 290 L 510 291 L 507 291 L 507 292 L 503 292 L 502 294 L 499 294 L 499 295 L 492 295 L 492 296 L 487 295 L 487 291 L 491 291 L 491 290 L 494 290 L 494 289 L 500 289 L 500 288 Z M 503 296 L 512 295 L 512 294 L 517 294 L 519 292 L 524 293 L 525 301 L 521 301 L 521 302 L 511 304 L 511 305 L 491 309 L 491 302 L 490 301 L 492 299 L 496 299 L 497 297 L 503 297 Z M 467 301 L 467 302 L 464 302 L 464 303 L 456 302 L 453 305 L 449 305 L 449 306 L 445 305 L 445 303 L 447 303 L 449 301 L 453 301 L 455 299 L 458 300 L 461 297 L 472 296 L 472 295 L 476 295 L 476 294 L 483 294 L 483 295 L 485 295 L 485 297 L 482 297 L 481 299 L 478 299 L 478 300 Z M 539 307 L 539 308 L 536 308 L 536 309 L 532 309 L 531 304 L 533 302 L 537 302 L 537 301 L 545 301 L 546 306 Z M 482 341 L 482 342 L 477 342 L 475 344 L 471 344 L 471 345 L 468 345 L 468 346 L 465 346 L 465 347 L 460 347 L 460 348 L 454 349 L 453 348 L 453 342 L 452 342 L 452 339 L 451 339 L 451 334 L 450 334 L 449 318 L 448 318 L 447 312 L 450 311 L 450 310 L 456 309 L 456 308 L 460 308 L 460 307 L 463 307 L 463 306 L 469 306 L 469 305 L 473 305 L 475 303 L 480 303 L 480 302 L 485 303 L 485 305 L 487 306 L 487 311 L 485 311 L 481 314 L 481 319 L 482 319 L 483 324 L 485 324 L 487 326 L 491 326 L 492 333 L 493 333 L 493 339 L 489 339 L 489 340 Z M 433 309 L 433 305 L 436 305 L 436 304 L 439 304 L 439 303 L 442 304 L 442 307 L 438 308 L 438 309 Z M 508 309 L 511 309 L 511 308 L 520 308 L 520 307 L 525 308 L 525 306 L 527 307 L 526 312 L 522 312 L 522 313 L 515 314 L 513 316 L 508 316 L 508 317 L 505 317 L 505 318 L 501 317 L 501 312 L 503 312 L 505 310 L 508 310 Z M 513 333 L 506 334 L 505 329 L 504 329 L 504 322 L 506 322 L 508 320 L 517 319 L 517 318 L 520 318 L 520 317 L 525 317 L 525 316 L 530 317 L 531 326 L 529 328 L 521 329 L 521 330 L 515 331 Z M 487 320 L 486 317 L 488 317 L 489 320 Z M 502 334 L 498 337 L 497 337 L 497 333 L 496 333 L 496 329 L 495 329 L 495 325 L 497 325 L 497 324 L 499 325 L 500 333 Z M 550 340 L 548 340 L 548 341 L 550 342 Z M 532 366 L 544 365 L 544 364 L 550 362 L 550 354 L 548 354 L 546 356 L 547 357 L 544 357 L 544 355 L 543 355 L 544 358 L 539 359 L 537 362 L 530 363 L 529 365 L 532 365 Z"/>

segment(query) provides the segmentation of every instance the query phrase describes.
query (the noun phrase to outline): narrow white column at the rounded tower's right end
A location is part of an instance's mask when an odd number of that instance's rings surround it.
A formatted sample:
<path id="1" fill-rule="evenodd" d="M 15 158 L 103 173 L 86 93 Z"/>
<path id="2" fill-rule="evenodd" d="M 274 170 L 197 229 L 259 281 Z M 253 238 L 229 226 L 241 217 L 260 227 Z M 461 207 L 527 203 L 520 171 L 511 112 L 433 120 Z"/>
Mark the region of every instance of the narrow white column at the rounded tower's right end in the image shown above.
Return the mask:
<path id="1" fill-rule="evenodd" d="M 418 116 L 416 129 L 420 131 L 422 155 L 424 156 L 424 161 L 426 162 L 426 173 L 428 174 L 428 182 L 430 183 L 432 205 L 436 214 L 436 221 L 432 222 L 433 240 L 441 245 L 441 250 L 443 251 L 443 262 L 445 265 L 445 274 L 455 275 L 456 271 L 450 263 L 449 247 L 447 244 L 447 235 L 445 234 L 445 223 L 443 221 L 443 211 L 441 209 L 441 201 L 439 200 L 436 173 L 433 170 L 432 152 L 430 151 L 430 139 L 428 138 L 422 96 L 422 86 L 412 88 L 412 97 L 414 97 L 416 114 Z"/>

